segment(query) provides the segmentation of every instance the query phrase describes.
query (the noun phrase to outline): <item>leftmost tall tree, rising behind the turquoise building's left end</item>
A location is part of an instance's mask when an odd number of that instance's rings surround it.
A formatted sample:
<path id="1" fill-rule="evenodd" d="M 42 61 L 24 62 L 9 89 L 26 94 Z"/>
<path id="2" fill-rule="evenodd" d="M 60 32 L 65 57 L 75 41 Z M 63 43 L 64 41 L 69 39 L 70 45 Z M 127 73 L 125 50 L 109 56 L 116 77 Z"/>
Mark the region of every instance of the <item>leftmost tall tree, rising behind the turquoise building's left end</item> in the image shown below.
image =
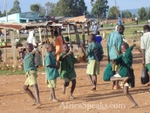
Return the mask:
<path id="1" fill-rule="evenodd" d="M 13 7 L 10 9 L 8 14 L 21 13 L 20 3 L 18 0 L 14 1 Z"/>

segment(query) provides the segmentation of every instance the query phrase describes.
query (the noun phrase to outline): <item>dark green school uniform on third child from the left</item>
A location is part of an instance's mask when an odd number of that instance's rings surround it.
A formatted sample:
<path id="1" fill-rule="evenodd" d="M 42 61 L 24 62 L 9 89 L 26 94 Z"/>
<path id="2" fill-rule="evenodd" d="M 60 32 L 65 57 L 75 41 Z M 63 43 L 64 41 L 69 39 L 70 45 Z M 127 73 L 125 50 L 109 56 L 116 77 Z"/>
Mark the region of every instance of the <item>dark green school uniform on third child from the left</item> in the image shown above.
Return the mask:
<path id="1" fill-rule="evenodd" d="M 66 53 L 62 53 L 60 55 L 60 60 L 64 55 L 66 55 Z M 74 64 L 76 62 L 77 59 L 73 56 L 73 54 L 66 56 L 60 61 L 60 78 L 64 79 L 65 82 L 70 82 L 76 79 L 76 72 L 74 70 Z"/>

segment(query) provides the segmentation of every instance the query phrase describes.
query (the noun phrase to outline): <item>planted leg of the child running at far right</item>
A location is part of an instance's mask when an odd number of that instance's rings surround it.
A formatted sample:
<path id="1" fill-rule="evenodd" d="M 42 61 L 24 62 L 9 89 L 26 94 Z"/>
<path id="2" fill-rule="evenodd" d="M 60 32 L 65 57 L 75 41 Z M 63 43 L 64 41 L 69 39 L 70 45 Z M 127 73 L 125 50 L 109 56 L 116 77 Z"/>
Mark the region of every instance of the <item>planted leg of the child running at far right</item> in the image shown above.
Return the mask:
<path id="1" fill-rule="evenodd" d="M 129 98 L 129 100 L 133 103 L 132 108 L 138 107 L 137 103 L 135 102 L 135 100 L 133 99 L 133 97 L 129 93 L 129 87 L 128 86 L 124 86 L 124 93 Z"/>

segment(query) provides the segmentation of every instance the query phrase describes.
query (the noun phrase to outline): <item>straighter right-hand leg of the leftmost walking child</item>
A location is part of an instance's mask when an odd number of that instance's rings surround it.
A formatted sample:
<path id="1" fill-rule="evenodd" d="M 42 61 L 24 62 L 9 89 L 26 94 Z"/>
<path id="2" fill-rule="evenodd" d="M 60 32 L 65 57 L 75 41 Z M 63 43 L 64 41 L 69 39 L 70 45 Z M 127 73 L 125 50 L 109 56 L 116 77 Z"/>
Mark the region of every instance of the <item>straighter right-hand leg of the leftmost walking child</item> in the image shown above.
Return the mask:
<path id="1" fill-rule="evenodd" d="M 34 93 L 35 93 L 35 98 L 36 98 L 36 103 L 37 107 L 41 106 L 41 101 L 40 101 L 40 96 L 39 96 L 39 88 L 37 84 L 32 85 Z"/>

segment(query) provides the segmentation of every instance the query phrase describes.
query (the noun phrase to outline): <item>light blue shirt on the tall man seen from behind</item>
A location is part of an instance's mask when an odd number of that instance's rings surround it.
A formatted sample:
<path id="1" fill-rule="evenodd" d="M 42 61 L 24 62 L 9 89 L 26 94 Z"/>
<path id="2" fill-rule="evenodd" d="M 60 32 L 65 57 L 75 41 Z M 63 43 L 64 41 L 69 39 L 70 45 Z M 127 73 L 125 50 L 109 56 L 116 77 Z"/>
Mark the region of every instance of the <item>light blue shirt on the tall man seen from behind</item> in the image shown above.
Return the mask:
<path id="1" fill-rule="evenodd" d="M 114 31 L 109 35 L 107 47 L 109 51 L 108 54 L 110 60 L 116 59 L 118 57 L 117 51 L 119 52 L 121 51 L 122 42 L 123 42 L 123 37 L 118 31 Z"/>

